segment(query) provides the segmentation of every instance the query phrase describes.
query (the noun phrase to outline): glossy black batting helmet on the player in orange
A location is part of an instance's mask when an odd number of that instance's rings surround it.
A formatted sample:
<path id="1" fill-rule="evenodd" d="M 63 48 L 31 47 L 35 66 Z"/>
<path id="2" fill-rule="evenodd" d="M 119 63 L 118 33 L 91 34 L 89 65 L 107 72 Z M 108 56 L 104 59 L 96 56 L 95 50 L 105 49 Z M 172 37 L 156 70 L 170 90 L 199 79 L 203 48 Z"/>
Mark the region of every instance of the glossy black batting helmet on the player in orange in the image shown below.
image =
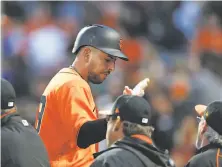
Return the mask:
<path id="1" fill-rule="evenodd" d="M 121 52 L 122 39 L 119 33 L 107 26 L 93 24 L 80 30 L 72 53 L 76 53 L 82 46 L 92 46 L 102 52 L 128 61 L 128 57 Z"/>

